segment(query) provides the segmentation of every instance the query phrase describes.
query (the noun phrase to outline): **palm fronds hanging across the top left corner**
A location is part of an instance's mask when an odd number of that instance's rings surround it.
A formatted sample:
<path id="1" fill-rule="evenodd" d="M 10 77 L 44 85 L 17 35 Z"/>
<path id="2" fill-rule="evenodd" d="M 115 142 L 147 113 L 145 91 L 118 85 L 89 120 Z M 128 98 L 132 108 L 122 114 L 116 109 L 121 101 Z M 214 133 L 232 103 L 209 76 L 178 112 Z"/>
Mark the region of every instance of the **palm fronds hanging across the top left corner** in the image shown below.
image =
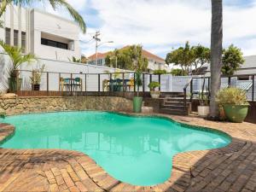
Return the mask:
<path id="1" fill-rule="evenodd" d="M 37 2 L 49 2 L 51 7 L 53 9 L 57 9 L 58 7 L 64 7 L 65 9 L 67 9 L 67 11 L 69 12 L 69 14 L 73 17 L 73 20 L 75 20 L 82 32 L 86 32 L 86 25 L 84 22 L 84 19 L 81 15 L 79 15 L 79 12 L 76 11 L 75 9 L 73 9 L 73 7 L 67 3 L 66 0 L 36 0 Z M 7 5 L 14 3 L 15 5 L 24 5 L 24 4 L 29 4 L 35 2 L 35 0 L 3 0 L 2 3 L 0 4 L 0 17 L 3 15 L 3 13 L 6 10 Z M 1 21 L 0 24 L 2 24 L 3 21 Z"/>

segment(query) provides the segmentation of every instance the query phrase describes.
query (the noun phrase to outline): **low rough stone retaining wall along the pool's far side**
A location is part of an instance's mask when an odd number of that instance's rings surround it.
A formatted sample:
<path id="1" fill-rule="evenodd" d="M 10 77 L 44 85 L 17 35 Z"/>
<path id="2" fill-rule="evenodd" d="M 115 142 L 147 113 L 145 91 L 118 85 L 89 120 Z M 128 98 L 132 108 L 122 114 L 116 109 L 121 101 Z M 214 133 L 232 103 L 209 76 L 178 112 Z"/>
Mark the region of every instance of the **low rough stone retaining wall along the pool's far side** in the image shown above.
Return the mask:
<path id="1" fill-rule="evenodd" d="M 69 110 L 131 112 L 132 101 L 117 96 L 0 98 L 0 111 L 7 115 Z"/>

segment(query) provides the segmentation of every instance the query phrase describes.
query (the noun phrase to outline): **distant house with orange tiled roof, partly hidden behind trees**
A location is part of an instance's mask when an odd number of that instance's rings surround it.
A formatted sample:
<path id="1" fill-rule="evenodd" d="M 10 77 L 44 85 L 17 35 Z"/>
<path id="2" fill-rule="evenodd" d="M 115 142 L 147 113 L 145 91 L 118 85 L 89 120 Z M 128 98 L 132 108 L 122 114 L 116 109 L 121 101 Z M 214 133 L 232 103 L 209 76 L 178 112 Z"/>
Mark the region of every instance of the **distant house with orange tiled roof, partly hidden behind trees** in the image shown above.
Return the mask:
<path id="1" fill-rule="evenodd" d="M 127 46 L 125 46 L 122 49 L 125 49 Z M 97 53 L 97 65 L 98 66 L 105 66 L 105 58 L 110 52 L 106 53 Z M 158 55 L 154 55 L 150 53 L 148 50 L 143 49 L 143 57 L 148 59 L 148 71 L 154 71 L 154 70 L 166 70 L 168 71 L 168 66 L 166 65 L 166 61 Z M 88 63 L 91 65 L 96 64 L 96 54 L 90 55 L 88 57 Z"/>

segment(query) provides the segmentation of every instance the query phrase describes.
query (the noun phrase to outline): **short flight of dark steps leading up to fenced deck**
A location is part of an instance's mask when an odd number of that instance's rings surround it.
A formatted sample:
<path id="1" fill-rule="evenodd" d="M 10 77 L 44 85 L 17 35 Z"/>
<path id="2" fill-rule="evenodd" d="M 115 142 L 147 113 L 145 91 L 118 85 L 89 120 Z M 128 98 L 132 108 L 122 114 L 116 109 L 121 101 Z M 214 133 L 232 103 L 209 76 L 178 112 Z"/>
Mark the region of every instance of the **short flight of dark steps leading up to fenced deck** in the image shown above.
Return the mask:
<path id="1" fill-rule="evenodd" d="M 183 92 L 161 93 L 160 97 L 160 113 L 188 115 L 191 112 L 191 103 Z"/>

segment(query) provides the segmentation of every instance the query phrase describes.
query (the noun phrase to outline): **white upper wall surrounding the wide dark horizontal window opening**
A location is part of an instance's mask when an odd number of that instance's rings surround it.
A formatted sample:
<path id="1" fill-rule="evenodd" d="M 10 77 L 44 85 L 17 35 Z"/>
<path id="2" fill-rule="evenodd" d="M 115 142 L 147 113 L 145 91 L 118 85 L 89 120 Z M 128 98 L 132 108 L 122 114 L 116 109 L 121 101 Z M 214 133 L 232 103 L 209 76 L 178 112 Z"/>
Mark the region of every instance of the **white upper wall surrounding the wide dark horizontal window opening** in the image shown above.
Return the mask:
<path id="1" fill-rule="evenodd" d="M 31 15 L 34 24 L 32 26 L 34 40 L 32 52 L 35 55 L 60 61 L 68 61 L 68 58 L 72 58 L 73 56 L 76 58 L 81 57 L 79 48 L 79 26 L 73 21 L 61 19 L 55 15 L 39 11 L 38 9 L 33 9 Z M 74 43 L 74 50 L 59 49 L 41 44 L 42 32 L 72 40 Z"/>

